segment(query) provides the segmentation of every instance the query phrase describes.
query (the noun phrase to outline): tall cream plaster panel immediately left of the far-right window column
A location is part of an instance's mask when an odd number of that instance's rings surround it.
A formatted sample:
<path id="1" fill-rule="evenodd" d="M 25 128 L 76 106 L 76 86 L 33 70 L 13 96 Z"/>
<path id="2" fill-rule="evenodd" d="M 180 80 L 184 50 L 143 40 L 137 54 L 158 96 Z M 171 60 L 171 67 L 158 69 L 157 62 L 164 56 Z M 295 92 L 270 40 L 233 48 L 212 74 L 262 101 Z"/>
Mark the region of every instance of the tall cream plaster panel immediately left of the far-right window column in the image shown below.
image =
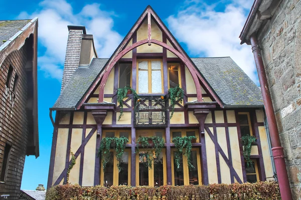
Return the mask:
<path id="1" fill-rule="evenodd" d="M 235 171 L 237 172 L 238 176 L 240 177 L 240 179 L 243 181 L 237 127 L 228 127 L 228 128 L 229 128 L 228 130 L 229 130 L 229 138 L 230 138 L 231 155 L 232 155 L 232 165 Z"/>

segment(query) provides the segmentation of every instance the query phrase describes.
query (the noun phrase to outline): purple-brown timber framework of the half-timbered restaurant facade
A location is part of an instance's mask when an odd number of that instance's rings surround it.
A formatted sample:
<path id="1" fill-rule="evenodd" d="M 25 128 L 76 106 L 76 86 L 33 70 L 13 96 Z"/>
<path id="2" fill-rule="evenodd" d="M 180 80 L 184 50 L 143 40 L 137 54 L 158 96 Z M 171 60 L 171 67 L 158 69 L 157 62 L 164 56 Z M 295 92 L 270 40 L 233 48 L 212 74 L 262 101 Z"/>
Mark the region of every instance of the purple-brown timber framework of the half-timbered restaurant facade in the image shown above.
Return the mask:
<path id="1" fill-rule="evenodd" d="M 152 39 L 152 28 L 151 28 L 151 18 L 155 19 L 155 22 L 159 26 L 159 28 L 162 30 L 162 37 L 163 41 L 159 41 L 157 39 Z M 136 31 L 143 22 L 143 20 L 147 19 L 147 27 L 148 27 L 148 34 L 147 38 L 143 40 L 137 41 L 137 35 Z M 167 44 L 167 39 L 171 42 L 172 46 L 169 46 Z M 132 44 L 127 46 L 129 41 L 132 40 Z M 152 45 L 157 44 L 159 46 L 163 47 L 163 52 L 161 53 L 138 53 L 137 47 L 141 46 L 142 44 L 148 44 Z M 178 57 L 167 57 L 167 50 L 173 52 Z M 132 58 L 122 58 L 127 52 L 132 51 Z M 147 6 L 144 12 L 141 14 L 141 16 L 138 18 L 137 22 L 134 24 L 134 26 L 131 28 L 129 33 L 125 36 L 121 44 L 117 47 L 111 58 L 108 60 L 107 64 L 104 66 L 104 69 L 98 74 L 96 79 L 91 84 L 90 88 L 86 92 L 86 94 L 82 97 L 82 99 L 79 101 L 79 103 L 76 106 L 76 110 L 69 110 L 70 112 L 70 121 L 69 124 L 59 124 L 60 119 L 60 112 L 57 111 L 56 113 L 56 119 L 54 121 L 54 135 L 53 135 L 53 143 L 52 143 L 52 152 L 51 152 L 51 162 L 50 162 L 50 170 L 49 170 L 49 178 L 48 178 L 48 187 L 56 184 L 60 184 L 62 180 L 66 180 L 67 176 L 67 168 L 70 162 L 70 143 L 71 143 L 71 134 L 72 134 L 72 128 L 82 128 L 82 143 L 78 149 L 73 149 L 75 152 L 75 157 L 77 158 L 79 154 L 81 154 L 80 157 L 80 167 L 79 167 L 79 184 L 82 185 L 83 183 L 83 170 L 84 170 L 84 156 L 85 156 L 85 145 L 91 138 L 92 134 L 97 131 L 97 137 L 96 137 L 96 154 L 95 154 L 95 167 L 94 167 L 94 185 L 100 184 L 100 170 L 102 170 L 101 167 L 101 157 L 98 157 L 97 150 L 99 147 L 99 144 L 102 139 L 102 131 L 104 129 L 127 129 L 130 130 L 130 143 L 126 144 L 126 148 L 130 149 L 130 185 L 135 186 L 136 185 L 136 129 L 139 127 L 135 127 L 133 121 L 134 121 L 134 101 L 132 94 L 127 94 L 126 98 L 123 100 L 123 104 L 125 105 L 123 108 L 124 112 L 131 112 L 131 124 L 118 124 L 116 121 L 116 113 L 120 111 L 120 105 L 117 104 L 117 96 L 116 96 L 116 90 L 118 88 L 118 70 L 116 68 L 119 68 L 119 62 L 131 62 L 132 63 L 132 71 L 131 71 L 131 81 L 132 81 L 132 88 L 136 89 L 136 79 L 137 79 L 137 58 L 162 58 L 163 61 L 163 88 L 164 88 L 164 94 L 167 94 L 168 92 L 168 62 L 177 62 L 180 63 L 180 72 L 181 72 L 181 87 L 184 90 L 184 104 L 181 104 L 179 101 L 177 102 L 177 107 L 175 108 L 175 112 L 181 111 L 184 112 L 184 123 L 183 124 L 171 124 L 169 115 L 170 110 L 168 109 L 166 112 L 166 116 L 168 118 L 166 126 L 162 127 L 165 129 L 165 152 L 166 152 L 166 174 L 167 174 L 167 183 L 173 184 L 172 179 L 172 148 L 175 147 L 175 145 L 171 142 L 171 131 L 173 129 L 177 128 L 193 128 L 198 129 L 198 138 L 199 142 L 193 143 L 193 147 L 198 149 L 200 152 L 200 160 L 201 160 L 201 175 L 202 177 L 202 184 L 209 184 L 210 177 L 208 175 L 208 168 L 207 168 L 207 152 L 206 152 L 206 141 L 208 139 L 213 142 L 214 144 L 214 150 L 215 150 L 215 159 L 216 159 L 216 170 L 217 170 L 217 183 L 222 183 L 222 170 L 221 170 L 221 163 L 220 160 L 224 160 L 227 167 L 230 171 L 230 181 L 231 183 L 234 182 L 245 182 L 246 181 L 246 171 L 244 166 L 244 157 L 242 154 L 243 146 L 240 139 L 238 139 L 239 143 L 239 155 L 240 155 L 240 162 L 241 162 L 241 170 L 242 174 L 240 175 L 237 169 L 233 166 L 232 163 L 232 153 L 231 152 L 231 146 L 230 146 L 230 136 L 229 136 L 229 129 L 228 127 L 235 127 L 237 130 L 237 137 L 241 138 L 240 133 L 240 125 L 238 122 L 238 112 L 246 111 L 250 113 L 250 118 L 252 121 L 252 132 L 257 137 L 257 141 L 253 143 L 254 146 L 258 147 L 258 155 L 251 155 L 252 159 L 256 159 L 258 163 L 258 169 L 259 169 L 259 178 L 260 180 L 266 180 L 265 175 L 265 168 L 264 168 L 264 162 L 262 157 L 262 149 L 261 149 L 261 142 L 260 142 L 260 135 L 258 131 L 259 126 L 264 126 L 263 122 L 257 122 L 256 119 L 256 113 L 255 108 L 253 109 L 231 109 L 235 112 L 235 118 L 236 122 L 228 122 L 227 120 L 227 111 L 228 109 L 223 108 L 223 103 L 220 100 L 220 98 L 216 95 L 216 93 L 212 90 L 211 86 L 208 84 L 208 82 L 204 79 L 204 77 L 200 74 L 200 72 L 196 69 L 195 65 L 191 61 L 191 59 L 188 57 L 186 52 L 182 49 L 180 44 L 176 41 L 176 39 L 173 37 L 173 35 L 169 32 L 169 30 L 166 28 L 166 26 L 163 24 L 161 19 L 158 17 L 158 15 L 155 13 L 155 11 L 150 7 Z M 114 70 L 114 85 L 113 90 L 114 92 L 112 94 L 105 94 L 104 88 L 106 81 L 108 80 L 108 76 L 111 72 L 111 70 L 115 67 Z M 186 88 L 186 76 L 185 76 L 185 67 L 188 68 L 189 72 L 192 75 L 193 81 L 196 85 L 196 94 L 187 94 L 187 88 Z M 99 88 L 99 93 L 94 94 L 96 89 Z M 205 90 L 205 93 L 202 93 L 202 88 Z M 141 96 L 143 95 L 149 95 L 149 94 L 139 94 Z M 159 94 L 162 95 L 162 94 Z M 97 97 L 98 102 L 97 103 L 88 103 L 88 100 L 90 97 Z M 112 98 L 111 103 L 104 102 L 104 97 Z M 188 102 L 189 97 L 196 97 L 197 102 Z M 212 102 L 203 102 L 202 97 L 209 97 Z M 130 101 L 131 100 L 131 101 Z M 129 103 L 131 102 L 131 103 Z M 229 109 L 230 110 L 230 109 Z M 67 110 L 64 110 L 66 112 Z M 77 111 L 84 112 L 84 123 L 83 124 L 73 124 L 72 123 L 72 117 L 73 114 Z M 224 122 L 216 122 L 215 120 L 215 111 L 221 111 L 223 113 L 223 121 Z M 94 119 L 96 121 L 96 124 L 87 124 L 87 115 L 91 112 L 94 116 Z M 103 124 L 103 121 L 107 115 L 108 112 L 112 112 L 112 123 L 111 124 Z M 193 115 L 196 117 L 198 123 L 190 123 L 189 122 L 189 112 L 193 112 Z M 62 112 L 63 113 L 63 112 Z M 211 113 L 212 122 L 205 123 L 206 117 L 208 114 Z M 217 129 L 219 127 L 225 128 L 225 135 L 226 135 L 226 144 L 227 148 L 223 149 L 220 143 L 218 142 L 218 136 L 217 136 Z M 53 180 L 54 177 L 54 162 L 55 162 L 55 154 L 56 154 L 56 145 L 57 145 L 57 138 L 58 138 L 58 129 L 59 128 L 69 128 L 69 134 L 68 134 L 68 145 L 67 145 L 67 155 L 66 155 L 66 164 L 64 170 L 61 172 L 59 177 L 56 180 Z M 87 128 L 91 128 L 91 131 L 89 133 L 85 133 Z M 171 130 L 172 129 L 172 130 Z M 205 135 L 206 136 L 205 138 Z M 68 149 L 69 148 L 69 149 Z M 208 157 L 210 159 L 210 157 Z"/>

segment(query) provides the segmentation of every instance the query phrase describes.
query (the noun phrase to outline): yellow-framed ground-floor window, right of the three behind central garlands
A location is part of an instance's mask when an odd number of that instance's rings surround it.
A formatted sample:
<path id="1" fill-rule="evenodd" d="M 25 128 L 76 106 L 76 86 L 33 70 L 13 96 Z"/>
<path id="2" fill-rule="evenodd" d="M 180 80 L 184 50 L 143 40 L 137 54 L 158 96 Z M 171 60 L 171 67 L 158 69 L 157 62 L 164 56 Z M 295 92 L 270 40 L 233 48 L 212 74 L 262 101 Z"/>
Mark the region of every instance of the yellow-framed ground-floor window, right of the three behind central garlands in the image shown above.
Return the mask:
<path id="1" fill-rule="evenodd" d="M 191 169 L 189 169 L 187 165 L 187 157 L 185 155 L 181 156 L 180 167 L 176 167 L 174 151 L 175 149 L 172 149 L 173 185 L 202 184 L 200 149 L 192 148 L 191 160 L 194 168 Z M 183 151 L 185 151 L 185 149 Z"/>

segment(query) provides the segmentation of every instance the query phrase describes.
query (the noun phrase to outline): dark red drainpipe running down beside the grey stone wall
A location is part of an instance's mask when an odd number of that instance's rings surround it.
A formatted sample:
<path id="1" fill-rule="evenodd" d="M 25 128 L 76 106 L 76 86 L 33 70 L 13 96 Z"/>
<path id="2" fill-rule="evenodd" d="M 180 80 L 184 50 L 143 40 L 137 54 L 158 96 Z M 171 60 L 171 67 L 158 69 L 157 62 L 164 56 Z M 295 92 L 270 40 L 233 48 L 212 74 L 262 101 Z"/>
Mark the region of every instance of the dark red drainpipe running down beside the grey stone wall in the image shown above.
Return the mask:
<path id="1" fill-rule="evenodd" d="M 260 88 L 263 97 L 263 103 L 265 107 L 267 123 L 270 130 L 271 142 L 272 142 L 272 154 L 275 161 L 275 167 L 278 176 L 278 183 L 280 188 L 280 194 L 282 200 L 291 200 L 291 191 L 284 161 L 283 147 L 280 143 L 279 132 L 276 123 L 276 117 L 274 114 L 272 99 L 269 93 L 266 74 L 264 70 L 264 65 L 262 61 L 262 56 L 260 52 L 260 47 L 255 34 L 250 37 L 250 42 L 252 45 L 252 51 L 254 54 L 254 59 L 256 63 L 256 68 L 258 72 L 258 78 L 260 83 Z"/>

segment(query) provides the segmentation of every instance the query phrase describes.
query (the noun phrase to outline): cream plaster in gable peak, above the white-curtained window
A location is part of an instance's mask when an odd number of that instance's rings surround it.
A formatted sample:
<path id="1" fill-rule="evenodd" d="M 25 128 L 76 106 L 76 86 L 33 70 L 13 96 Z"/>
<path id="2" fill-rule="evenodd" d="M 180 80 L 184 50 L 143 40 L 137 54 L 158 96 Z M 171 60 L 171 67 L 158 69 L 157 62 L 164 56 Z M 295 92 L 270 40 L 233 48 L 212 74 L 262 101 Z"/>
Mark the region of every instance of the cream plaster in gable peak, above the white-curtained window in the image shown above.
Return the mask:
<path id="1" fill-rule="evenodd" d="M 157 39 L 162 41 L 162 31 L 152 19 L 152 39 Z M 145 19 L 139 29 L 137 30 L 137 41 L 147 39 L 148 37 L 148 27 L 147 27 L 147 19 Z M 137 47 L 137 53 L 147 53 L 147 52 L 163 52 L 162 46 L 152 43 L 152 45 L 148 46 L 148 44 L 143 44 Z"/>

